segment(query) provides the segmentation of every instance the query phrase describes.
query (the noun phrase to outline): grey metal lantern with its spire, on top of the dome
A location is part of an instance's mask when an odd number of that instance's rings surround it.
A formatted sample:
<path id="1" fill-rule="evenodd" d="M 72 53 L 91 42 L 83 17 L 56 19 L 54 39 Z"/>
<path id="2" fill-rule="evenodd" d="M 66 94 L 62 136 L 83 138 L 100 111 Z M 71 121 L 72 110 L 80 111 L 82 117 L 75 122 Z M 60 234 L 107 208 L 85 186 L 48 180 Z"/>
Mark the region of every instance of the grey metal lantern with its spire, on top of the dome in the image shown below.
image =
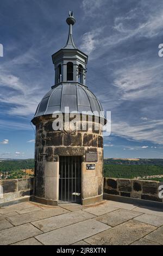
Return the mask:
<path id="1" fill-rule="evenodd" d="M 58 52 L 52 55 L 55 68 L 55 84 L 64 83 L 80 83 L 86 84 L 86 64 L 87 55 L 78 50 L 73 41 L 72 26 L 76 22 L 73 13 L 69 12 L 66 20 L 69 25 L 69 33 L 66 45 Z"/>

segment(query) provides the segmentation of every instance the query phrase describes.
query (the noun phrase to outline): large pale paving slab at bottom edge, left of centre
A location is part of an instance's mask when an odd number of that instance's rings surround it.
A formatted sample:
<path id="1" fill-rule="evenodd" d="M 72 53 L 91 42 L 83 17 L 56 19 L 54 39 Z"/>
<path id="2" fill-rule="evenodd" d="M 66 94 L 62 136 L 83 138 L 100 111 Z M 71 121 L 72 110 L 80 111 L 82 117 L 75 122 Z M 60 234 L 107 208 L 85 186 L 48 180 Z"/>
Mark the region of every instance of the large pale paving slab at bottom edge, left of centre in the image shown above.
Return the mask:
<path id="1" fill-rule="evenodd" d="M 83 240 L 86 237 L 95 235 L 109 228 L 108 225 L 96 220 L 86 220 L 38 235 L 36 236 L 36 239 L 44 245 L 71 245 L 72 243 Z"/>

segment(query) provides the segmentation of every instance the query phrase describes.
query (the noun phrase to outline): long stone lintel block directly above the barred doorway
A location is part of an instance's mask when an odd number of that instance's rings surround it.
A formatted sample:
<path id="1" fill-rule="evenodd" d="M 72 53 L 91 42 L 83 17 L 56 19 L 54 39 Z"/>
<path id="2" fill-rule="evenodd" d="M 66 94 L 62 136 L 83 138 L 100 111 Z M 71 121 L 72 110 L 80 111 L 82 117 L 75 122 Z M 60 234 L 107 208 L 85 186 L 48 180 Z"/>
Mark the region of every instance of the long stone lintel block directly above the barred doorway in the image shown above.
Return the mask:
<path id="1" fill-rule="evenodd" d="M 56 147 L 54 155 L 59 156 L 83 156 L 85 153 L 84 147 Z"/>

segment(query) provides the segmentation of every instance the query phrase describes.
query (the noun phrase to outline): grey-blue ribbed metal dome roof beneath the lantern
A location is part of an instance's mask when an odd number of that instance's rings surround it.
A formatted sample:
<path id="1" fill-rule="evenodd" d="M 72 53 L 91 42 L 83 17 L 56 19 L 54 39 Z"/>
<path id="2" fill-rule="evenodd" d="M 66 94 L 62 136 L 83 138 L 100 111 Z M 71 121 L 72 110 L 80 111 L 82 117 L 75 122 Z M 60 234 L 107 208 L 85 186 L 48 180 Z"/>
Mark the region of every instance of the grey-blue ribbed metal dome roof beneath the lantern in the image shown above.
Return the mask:
<path id="1" fill-rule="evenodd" d="M 85 86 L 79 84 L 59 84 L 50 90 L 39 103 L 34 118 L 53 114 L 56 111 L 65 113 L 65 107 L 69 107 L 69 112 L 89 111 L 90 115 L 105 118 L 97 97 Z M 93 113 L 95 111 L 98 114 Z"/>

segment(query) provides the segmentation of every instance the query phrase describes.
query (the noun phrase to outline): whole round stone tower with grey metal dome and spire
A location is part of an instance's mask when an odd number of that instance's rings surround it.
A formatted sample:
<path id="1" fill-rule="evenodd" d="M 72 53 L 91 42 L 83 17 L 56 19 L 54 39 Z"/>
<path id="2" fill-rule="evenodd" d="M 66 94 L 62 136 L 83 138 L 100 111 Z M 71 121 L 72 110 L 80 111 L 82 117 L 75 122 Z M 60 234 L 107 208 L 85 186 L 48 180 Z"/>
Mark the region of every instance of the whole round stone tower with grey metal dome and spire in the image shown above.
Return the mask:
<path id="1" fill-rule="evenodd" d="M 55 84 L 42 98 L 36 126 L 34 200 L 90 204 L 103 198 L 103 137 L 106 123 L 96 96 L 86 86 L 87 55 L 72 37 L 70 11 L 65 47 L 52 55 Z M 73 112 L 73 113 L 72 113 Z"/>

